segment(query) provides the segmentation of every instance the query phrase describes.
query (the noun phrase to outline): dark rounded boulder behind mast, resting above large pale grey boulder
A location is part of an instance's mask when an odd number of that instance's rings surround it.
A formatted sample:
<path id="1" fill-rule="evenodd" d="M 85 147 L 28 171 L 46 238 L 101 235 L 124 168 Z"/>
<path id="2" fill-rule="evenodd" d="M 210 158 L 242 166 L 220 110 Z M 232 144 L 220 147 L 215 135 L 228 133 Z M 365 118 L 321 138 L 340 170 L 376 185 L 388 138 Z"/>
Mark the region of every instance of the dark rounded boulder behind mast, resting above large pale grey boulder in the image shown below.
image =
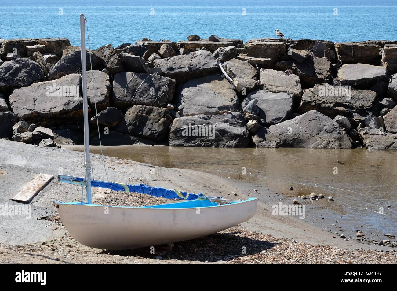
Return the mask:
<path id="1" fill-rule="evenodd" d="M 93 69 L 95 70 L 98 68 L 99 62 L 92 53 L 86 51 L 85 61 L 87 62 L 87 70 L 91 70 L 90 54 L 93 63 Z M 81 72 L 81 51 L 76 51 L 64 56 L 59 62 L 57 62 L 48 73 L 47 80 L 55 80 L 66 75 L 79 72 Z"/>

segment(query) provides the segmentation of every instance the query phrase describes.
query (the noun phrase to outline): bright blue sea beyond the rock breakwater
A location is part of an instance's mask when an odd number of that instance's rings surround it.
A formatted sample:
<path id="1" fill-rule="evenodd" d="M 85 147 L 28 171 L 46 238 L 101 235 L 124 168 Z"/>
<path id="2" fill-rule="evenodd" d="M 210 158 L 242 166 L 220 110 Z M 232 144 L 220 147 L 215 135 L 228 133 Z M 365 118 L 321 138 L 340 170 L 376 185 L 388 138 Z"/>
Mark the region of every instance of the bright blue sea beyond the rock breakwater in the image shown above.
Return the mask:
<path id="1" fill-rule="evenodd" d="M 397 40 L 396 0 L 1 0 L 0 38 L 66 37 L 80 45 L 79 15 L 91 48 L 186 40 L 191 34 L 335 42 Z"/>

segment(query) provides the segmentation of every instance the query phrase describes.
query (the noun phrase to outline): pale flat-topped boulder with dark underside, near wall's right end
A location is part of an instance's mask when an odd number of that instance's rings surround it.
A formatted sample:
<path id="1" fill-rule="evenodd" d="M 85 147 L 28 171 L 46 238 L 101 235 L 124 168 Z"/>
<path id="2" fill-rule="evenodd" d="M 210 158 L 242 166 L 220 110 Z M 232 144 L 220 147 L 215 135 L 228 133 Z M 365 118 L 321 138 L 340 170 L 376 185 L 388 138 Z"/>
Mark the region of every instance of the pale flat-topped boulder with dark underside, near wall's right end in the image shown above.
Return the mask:
<path id="1" fill-rule="evenodd" d="M 338 68 L 338 78 L 342 85 L 355 85 L 356 88 L 369 88 L 379 82 L 389 81 L 385 67 L 368 64 L 344 64 Z"/>

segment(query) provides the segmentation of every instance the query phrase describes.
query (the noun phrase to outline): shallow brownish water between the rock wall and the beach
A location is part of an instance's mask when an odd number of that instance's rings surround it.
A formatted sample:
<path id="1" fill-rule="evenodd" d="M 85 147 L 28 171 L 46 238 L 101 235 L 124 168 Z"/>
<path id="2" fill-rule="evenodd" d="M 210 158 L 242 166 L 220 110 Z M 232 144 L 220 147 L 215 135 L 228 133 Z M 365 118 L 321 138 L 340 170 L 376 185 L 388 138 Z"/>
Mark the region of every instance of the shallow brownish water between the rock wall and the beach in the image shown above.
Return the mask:
<path id="1" fill-rule="evenodd" d="M 82 146 L 68 148 L 81 150 Z M 91 147 L 91 152 L 100 153 L 99 147 Z M 161 167 L 193 169 L 219 175 L 238 184 L 251 197 L 264 198 L 275 193 L 292 197 L 309 195 L 311 192 L 333 196 L 335 201 L 306 200 L 304 204 L 310 205 L 310 213 L 321 213 L 320 216 L 328 222 L 336 223 L 337 219 L 339 223 L 335 225 L 353 232 L 364 226 L 368 234 L 397 234 L 395 151 L 133 145 L 103 147 L 103 152 L 104 155 Z M 109 176 L 111 180 L 117 179 L 111 173 Z M 293 191 L 289 190 L 290 186 L 293 186 Z M 261 194 L 255 193 L 254 188 Z M 276 202 L 279 197 L 274 197 L 272 201 Z M 291 203 L 292 198 L 286 201 Z M 382 210 L 384 214 L 379 213 Z"/>

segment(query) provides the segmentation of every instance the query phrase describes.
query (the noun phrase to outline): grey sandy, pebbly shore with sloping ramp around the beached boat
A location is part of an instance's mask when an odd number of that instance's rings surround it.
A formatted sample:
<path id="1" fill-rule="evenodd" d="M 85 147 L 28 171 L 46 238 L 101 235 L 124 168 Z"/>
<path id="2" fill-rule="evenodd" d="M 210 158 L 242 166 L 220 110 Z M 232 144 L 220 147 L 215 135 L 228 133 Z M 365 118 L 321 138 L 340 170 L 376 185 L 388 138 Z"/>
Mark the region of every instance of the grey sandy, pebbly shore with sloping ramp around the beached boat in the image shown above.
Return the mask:
<path id="1" fill-rule="evenodd" d="M 10 200 L 24 184 L 38 173 L 56 177 L 83 174 L 83 153 L 67 149 L 44 148 L 0 140 L 1 204 Z M 102 160 L 92 155 L 95 178 L 104 178 Z M 206 173 L 155 167 L 125 159 L 105 156 L 110 180 L 146 183 L 152 186 L 205 192 L 218 196 L 234 195 L 246 199 L 235 185 Z M 150 171 L 150 169 L 155 169 Z M 154 175 L 153 175 L 154 173 Z M 272 205 L 258 204 L 256 215 L 249 221 L 208 237 L 162 246 L 156 254 L 148 250 L 112 251 L 88 248 L 75 241 L 60 221 L 53 200 L 81 200 L 81 188 L 60 183 L 54 178 L 31 201 L 31 217 L 1 217 L 0 262 L 20 263 L 395 263 L 393 248 L 368 246 L 356 241 L 333 237 L 329 232 L 291 216 L 272 215 Z M 94 192 L 94 203 L 119 206 L 143 206 L 166 200 L 125 194 Z M 245 253 L 243 253 L 243 248 Z"/>

